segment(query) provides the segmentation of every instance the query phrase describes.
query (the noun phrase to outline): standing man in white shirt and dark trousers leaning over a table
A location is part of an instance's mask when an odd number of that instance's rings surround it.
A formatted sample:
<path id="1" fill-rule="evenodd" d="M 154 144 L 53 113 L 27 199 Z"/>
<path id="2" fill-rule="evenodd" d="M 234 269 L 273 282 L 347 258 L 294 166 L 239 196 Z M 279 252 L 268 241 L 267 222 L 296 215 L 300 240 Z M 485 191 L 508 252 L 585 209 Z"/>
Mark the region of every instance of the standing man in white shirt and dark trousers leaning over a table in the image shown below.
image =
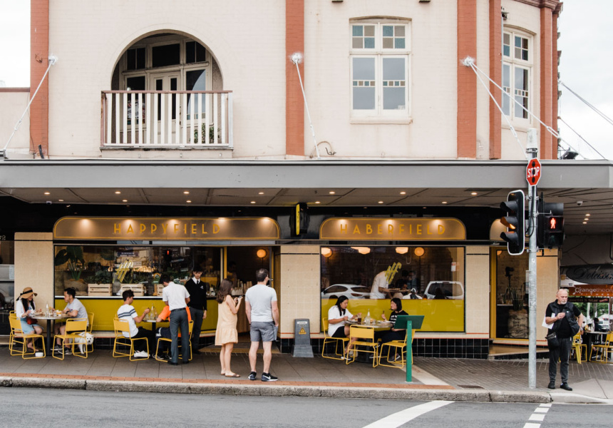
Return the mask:
<path id="1" fill-rule="evenodd" d="M 170 280 L 170 276 L 162 274 L 160 282 L 164 285 L 162 300 L 170 307 L 170 360 L 168 364 L 179 365 L 179 328 L 181 329 L 181 347 L 183 349 L 183 364 L 190 362 L 190 322 L 187 320 L 187 303 L 190 293 L 180 284 Z"/>

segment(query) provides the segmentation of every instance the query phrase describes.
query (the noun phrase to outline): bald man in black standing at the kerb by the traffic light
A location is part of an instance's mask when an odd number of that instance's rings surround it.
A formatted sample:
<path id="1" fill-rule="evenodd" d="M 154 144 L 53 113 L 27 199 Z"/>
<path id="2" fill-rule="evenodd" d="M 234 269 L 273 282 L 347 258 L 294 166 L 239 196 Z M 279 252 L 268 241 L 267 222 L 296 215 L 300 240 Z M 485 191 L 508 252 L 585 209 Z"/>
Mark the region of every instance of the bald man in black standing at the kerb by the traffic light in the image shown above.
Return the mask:
<path id="1" fill-rule="evenodd" d="M 549 346 L 549 385 L 547 388 L 555 389 L 555 375 L 557 371 L 557 360 L 560 360 L 560 377 L 562 384 L 560 388 L 572 391 L 568 385 L 568 359 L 572 347 L 572 337 L 577 332 L 583 332 L 583 314 L 572 303 L 568 302 L 568 291 L 565 289 L 557 290 L 557 300 L 547 305 L 545 311 L 545 322 L 554 324 L 547 335 L 547 345 Z M 579 322 L 577 323 L 577 317 Z M 555 337 L 550 338 L 552 333 Z"/>

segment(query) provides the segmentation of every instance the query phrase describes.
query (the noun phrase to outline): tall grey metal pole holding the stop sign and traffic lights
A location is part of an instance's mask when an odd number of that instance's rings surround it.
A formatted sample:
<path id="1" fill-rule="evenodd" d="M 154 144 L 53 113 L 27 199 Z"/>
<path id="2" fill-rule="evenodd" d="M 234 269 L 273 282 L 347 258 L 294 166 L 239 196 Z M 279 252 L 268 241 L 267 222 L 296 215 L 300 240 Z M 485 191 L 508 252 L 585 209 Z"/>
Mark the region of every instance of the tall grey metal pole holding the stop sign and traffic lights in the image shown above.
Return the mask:
<path id="1" fill-rule="evenodd" d="M 532 159 L 538 156 L 536 129 L 528 130 L 528 142 L 526 153 L 532 155 Z M 530 161 L 528 161 L 530 162 Z M 537 327 L 537 300 L 536 300 L 536 254 L 537 254 L 537 186 L 528 186 L 528 199 L 530 200 L 530 243 L 528 244 L 528 280 L 530 282 L 528 292 L 528 387 L 536 388 L 536 327 Z"/>

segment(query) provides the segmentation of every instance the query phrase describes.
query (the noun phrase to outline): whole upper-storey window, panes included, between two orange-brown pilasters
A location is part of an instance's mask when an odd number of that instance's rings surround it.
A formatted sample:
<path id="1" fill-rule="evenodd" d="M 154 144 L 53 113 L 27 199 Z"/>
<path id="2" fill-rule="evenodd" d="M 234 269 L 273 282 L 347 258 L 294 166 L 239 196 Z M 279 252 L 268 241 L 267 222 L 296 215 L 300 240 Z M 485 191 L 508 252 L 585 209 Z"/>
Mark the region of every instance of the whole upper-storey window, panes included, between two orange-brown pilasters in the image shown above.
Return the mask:
<path id="1" fill-rule="evenodd" d="M 408 116 L 409 34 L 408 22 L 351 24 L 352 116 Z"/>

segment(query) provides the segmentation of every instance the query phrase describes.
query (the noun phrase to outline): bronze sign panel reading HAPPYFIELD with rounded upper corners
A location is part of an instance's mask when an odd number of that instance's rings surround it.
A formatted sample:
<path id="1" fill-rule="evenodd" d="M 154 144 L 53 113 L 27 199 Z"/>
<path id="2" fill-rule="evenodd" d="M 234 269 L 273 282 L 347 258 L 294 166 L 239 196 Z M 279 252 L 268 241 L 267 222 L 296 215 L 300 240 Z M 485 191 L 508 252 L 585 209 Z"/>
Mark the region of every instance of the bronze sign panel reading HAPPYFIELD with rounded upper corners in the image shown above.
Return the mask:
<path id="1" fill-rule="evenodd" d="M 63 217 L 56 240 L 276 240 L 272 218 Z"/>

